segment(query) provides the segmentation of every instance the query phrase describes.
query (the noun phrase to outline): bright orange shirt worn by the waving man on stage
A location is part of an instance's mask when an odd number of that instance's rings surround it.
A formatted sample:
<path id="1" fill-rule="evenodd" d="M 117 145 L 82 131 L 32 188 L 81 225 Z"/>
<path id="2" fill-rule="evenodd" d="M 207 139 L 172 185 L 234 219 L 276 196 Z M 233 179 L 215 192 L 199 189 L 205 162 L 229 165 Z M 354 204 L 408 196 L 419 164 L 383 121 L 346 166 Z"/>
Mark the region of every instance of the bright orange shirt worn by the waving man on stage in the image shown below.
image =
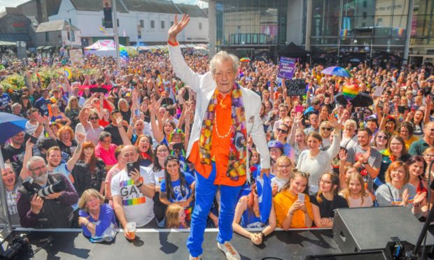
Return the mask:
<path id="1" fill-rule="evenodd" d="M 216 161 L 216 180 L 214 180 L 215 185 L 227 185 L 227 186 L 241 186 L 246 182 L 246 176 L 241 176 L 239 180 L 234 181 L 226 175 L 228 173 L 228 163 L 229 163 L 229 150 L 230 150 L 230 138 L 232 137 L 232 96 L 227 94 L 224 98 L 223 95 L 218 93 L 217 95 L 217 106 L 214 111 L 214 127 L 211 135 L 211 158 Z M 217 125 L 217 127 L 216 127 Z M 228 131 L 231 131 L 225 138 L 220 138 L 217 135 L 225 136 Z M 188 159 L 195 164 L 195 169 L 204 178 L 208 178 L 211 173 L 211 165 L 202 164 L 200 162 L 199 154 L 199 140 L 197 140 L 192 147 L 190 156 Z"/>

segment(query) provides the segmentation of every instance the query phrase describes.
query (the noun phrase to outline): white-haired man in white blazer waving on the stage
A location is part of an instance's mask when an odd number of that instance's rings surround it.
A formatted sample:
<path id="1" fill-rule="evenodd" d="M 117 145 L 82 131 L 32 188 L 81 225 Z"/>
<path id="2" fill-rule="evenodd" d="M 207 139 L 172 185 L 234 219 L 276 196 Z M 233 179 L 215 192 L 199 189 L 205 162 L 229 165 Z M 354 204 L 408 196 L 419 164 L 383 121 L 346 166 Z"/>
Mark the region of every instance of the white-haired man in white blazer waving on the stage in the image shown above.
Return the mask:
<path id="1" fill-rule="evenodd" d="M 210 71 L 204 75 L 194 73 L 188 67 L 176 36 L 189 21 L 190 17 L 183 15 L 178 22 L 175 15 L 167 41 L 176 76 L 197 93 L 195 121 L 187 152 L 196 171 L 195 209 L 187 247 L 190 259 L 201 258 L 207 216 L 220 186 L 217 245 L 227 259 L 240 259 L 230 240 L 237 196 L 248 175 L 248 135 L 252 136 L 260 153 L 260 174 L 269 174 L 269 152 L 259 115 L 260 96 L 236 82 L 238 58 L 235 55 L 218 52 L 211 59 Z"/>

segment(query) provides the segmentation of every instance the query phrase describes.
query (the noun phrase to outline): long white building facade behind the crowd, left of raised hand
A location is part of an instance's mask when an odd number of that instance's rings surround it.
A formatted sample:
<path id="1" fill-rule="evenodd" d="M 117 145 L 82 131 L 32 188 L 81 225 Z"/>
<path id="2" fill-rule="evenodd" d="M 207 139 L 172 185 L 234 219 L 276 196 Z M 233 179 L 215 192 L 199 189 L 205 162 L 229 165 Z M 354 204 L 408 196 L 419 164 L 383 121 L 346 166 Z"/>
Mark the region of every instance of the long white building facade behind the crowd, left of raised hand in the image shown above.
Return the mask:
<path id="1" fill-rule="evenodd" d="M 102 3 L 101 10 L 95 10 L 97 8 L 93 8 L 94 10 L 83 10 L 86 6 L 80 6 L 77 2 L 80 1 L 62 0 L 57 15 L 50 16 L 49 20 L 66 20 L 80 29 L 83 47 L 99 39 L 113 38 L 113 36 L 111 36 L 113 29 L 105 29 L 102 24 L 104 20 Z M 160 0 L 155 1 L 155 3 L 158 4 L 160 2 L 168 6 L 173 5 L 173 8 L 166 8 L 166 10 L 171 12 L 153 13 L 128 10 L 128 0 L 118 0 L 116 2 L 120 44 L 133 45 L 139 41 L 147 45 L 165 44 L 167 42 L 167 31 L 174 22 L 174 15 L 178 14 L 180 17 L 182 13 L 184 13 L 183 10 L 195 10 L 195 8 L 197 9 L 195 12 L 192 12 L 193 15 L 190 14 L 190 24 L 179 35 L 179 42 L 208 43 L 209 41 L 208 17 L 201 12 L 200 8 L 197 6 L 179 6 L 172 1 Z M 137 1 L 135 3 L 137 3 Z M 144 2 L 144 4 L 146 4 L 146 2 Z M 146 9 L 146 6 L 142 7 Z M 150 9 L 152 8 L 148 10 Z M 101 28 L 103 28 L 105 32 L 103 32 Z"/>

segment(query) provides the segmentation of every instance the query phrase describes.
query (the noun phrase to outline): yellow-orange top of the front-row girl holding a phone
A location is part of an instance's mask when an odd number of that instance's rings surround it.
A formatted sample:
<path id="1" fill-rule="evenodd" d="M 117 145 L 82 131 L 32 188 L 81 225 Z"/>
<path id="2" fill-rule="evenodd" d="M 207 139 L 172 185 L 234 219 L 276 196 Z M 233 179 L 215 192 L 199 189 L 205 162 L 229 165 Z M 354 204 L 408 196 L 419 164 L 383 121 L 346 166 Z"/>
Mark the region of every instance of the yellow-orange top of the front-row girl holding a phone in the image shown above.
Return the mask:
<path id="1" fill-rule="evenodd" d="M 276 211 L 276 222 L 277 226 L 282 227 L 283 219 L 286 217 L 289 208 L 297 201 L 298 196 L 294 196 L 287 189 L 279 192 L 274 196 L 274 210 Z M 310 203 L 309 196 L 304 196 L 304 205 L 306 205 L 307 215 L 313 220 L 314 213 L 312 212 L 312 207 Z M 293 219 L 291 221 L 290 227 L 293 229 L 304 228 L 306 224 L 304 223 L 304 212 L 297 210 L 294 212 Z"/>

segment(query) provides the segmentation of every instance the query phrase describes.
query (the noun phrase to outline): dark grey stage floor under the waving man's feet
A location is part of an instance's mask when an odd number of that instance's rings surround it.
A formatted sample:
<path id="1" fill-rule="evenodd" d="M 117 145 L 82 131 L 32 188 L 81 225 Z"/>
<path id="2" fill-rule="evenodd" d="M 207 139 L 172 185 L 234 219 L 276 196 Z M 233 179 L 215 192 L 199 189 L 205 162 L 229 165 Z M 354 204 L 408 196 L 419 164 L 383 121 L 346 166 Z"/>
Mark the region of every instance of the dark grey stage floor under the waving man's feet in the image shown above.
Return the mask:
<path id="1" fill-rule="evenodd" d="M 27 233 L 31 243 L 52 238 L 50 243 L 41 243 L 41 250 L 33 259 L 188 259 L 186 239 L 189 232 L 186 231 L 139 229 L 133 242 L 126 240 L 121 231 L 112 243 L 90 243 L 80 229 L 17 229 L 8 238 L 17 233 Z M 216 229 L 205 232 L 202 244 L 204 259 L 225 259 L 223 252 L 217 248 L 216 236 Z M 260 246 L 234 234 L 232 245 L 241 259 L 304 259 L 311 254 L 342 253 L 332 238 L 331 229 L 274 231 Z M 32 245 L 32 248 L 36 250 L 37 247 Z"/>

